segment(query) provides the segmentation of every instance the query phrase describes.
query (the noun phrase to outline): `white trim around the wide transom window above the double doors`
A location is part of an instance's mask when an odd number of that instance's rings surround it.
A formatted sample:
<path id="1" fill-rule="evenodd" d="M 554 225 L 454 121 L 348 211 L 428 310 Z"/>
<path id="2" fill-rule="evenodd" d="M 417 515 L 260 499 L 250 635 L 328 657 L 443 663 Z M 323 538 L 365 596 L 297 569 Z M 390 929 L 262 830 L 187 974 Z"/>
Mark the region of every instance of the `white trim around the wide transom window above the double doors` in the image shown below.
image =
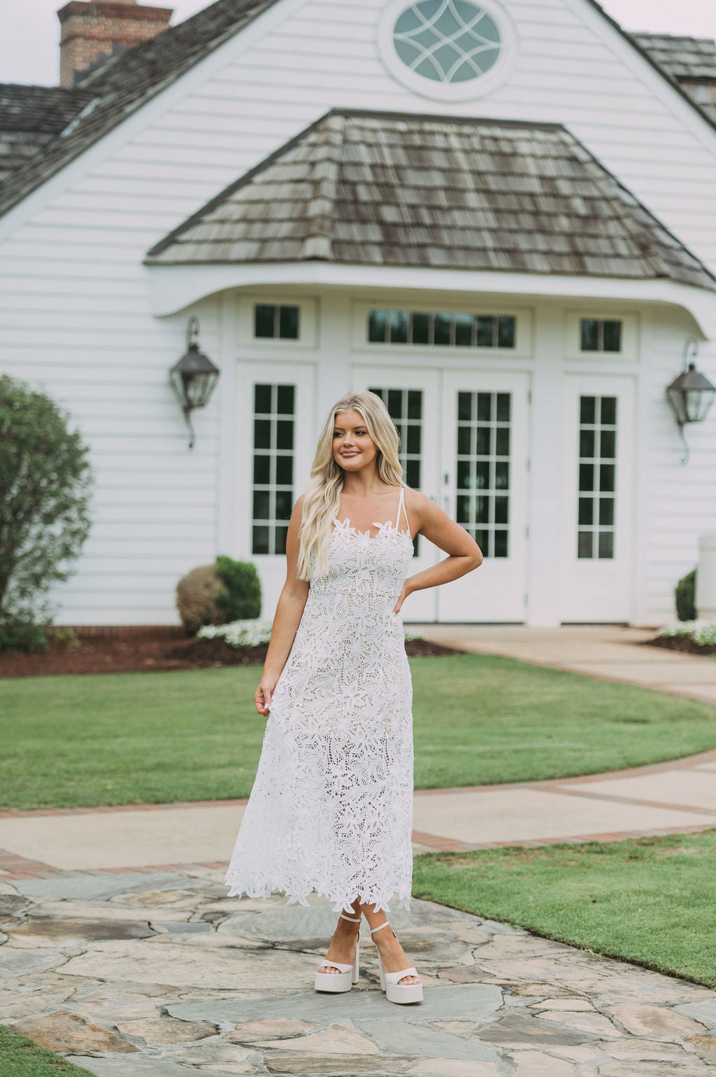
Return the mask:
<path id="1" fill-rule="evenodd" d="M 515 319 L 516 345 L 514 348 L 481 348 L 458 347 L 457 345 L 437 344 L 379 344 L 368 340 L 368 312 L 370 310 L 408 310 L 416 313 L 446 313 L 446 314 L 486 314 L 486 316 L 508 316 Z M 524 308 L 516 308 L 500 299 L 479 298 L 478 302 L 468 306 L 465 303 L 450 304 L 440 303 L 412 303 L 410 299 L 385 299 L 378 298 L 374 303 L 353 304 L 353 332 L 352 348 L 356 352 L 367 352 L 374 358 L 379 354 L 391 356 L 399 355 L 437 355 L 455 359 L 461 355 L 491 356 L 495 361 L 503 359 L 525 359 L 532 358 L 532 311 Z"/>

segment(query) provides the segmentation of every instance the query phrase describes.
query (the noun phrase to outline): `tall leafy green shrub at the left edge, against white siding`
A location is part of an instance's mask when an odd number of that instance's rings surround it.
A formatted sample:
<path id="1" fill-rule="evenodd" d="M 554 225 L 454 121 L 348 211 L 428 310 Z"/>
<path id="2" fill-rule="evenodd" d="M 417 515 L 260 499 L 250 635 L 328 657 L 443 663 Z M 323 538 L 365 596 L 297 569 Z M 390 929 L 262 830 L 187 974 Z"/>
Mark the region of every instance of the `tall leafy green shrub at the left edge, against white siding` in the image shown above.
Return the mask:
<path id="1" fill-rule="evenodd" d="M 88 452 L 54 401 L 0 377 L 0 649 L 46 646 L 47 591 L 89 533 Z"/>

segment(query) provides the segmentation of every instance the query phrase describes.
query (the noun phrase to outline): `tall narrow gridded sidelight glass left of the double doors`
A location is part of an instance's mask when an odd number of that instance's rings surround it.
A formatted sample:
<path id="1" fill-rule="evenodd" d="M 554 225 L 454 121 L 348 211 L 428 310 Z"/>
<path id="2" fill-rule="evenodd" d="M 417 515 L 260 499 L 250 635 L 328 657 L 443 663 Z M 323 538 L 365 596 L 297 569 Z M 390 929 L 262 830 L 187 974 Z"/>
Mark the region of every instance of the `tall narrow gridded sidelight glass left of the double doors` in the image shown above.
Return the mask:
<path id="1" fill-rule="evenodd" d="M 295 386 L 254 386 L 253 554 L 285 554 L 293 507 Z"/>

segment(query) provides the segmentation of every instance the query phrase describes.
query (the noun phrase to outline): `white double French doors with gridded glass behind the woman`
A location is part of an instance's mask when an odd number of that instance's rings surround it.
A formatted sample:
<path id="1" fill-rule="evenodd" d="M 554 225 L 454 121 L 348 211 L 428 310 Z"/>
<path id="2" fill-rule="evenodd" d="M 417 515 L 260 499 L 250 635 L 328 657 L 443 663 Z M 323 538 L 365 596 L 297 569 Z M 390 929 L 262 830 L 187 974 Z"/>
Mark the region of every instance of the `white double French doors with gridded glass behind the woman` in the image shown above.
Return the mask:
<path id="1" fill-rule="evenodd" d="M 440 504 L 485 556 L 476 572 L 411 595 L 406 617 L 524 620 L 528 375 L 360 367 L 355 381 L 388 405 L 401 434 L 407 484 Z M 444 556 L 420 536 L 413 572 Z"/>

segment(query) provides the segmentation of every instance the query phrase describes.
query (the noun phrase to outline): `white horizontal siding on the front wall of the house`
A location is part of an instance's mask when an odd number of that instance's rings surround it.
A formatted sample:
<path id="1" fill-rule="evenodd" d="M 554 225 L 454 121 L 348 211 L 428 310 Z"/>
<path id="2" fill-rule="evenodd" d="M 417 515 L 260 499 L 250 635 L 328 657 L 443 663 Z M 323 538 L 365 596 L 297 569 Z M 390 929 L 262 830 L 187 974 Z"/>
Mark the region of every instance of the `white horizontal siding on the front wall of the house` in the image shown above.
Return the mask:
<path id="1" fill-rule="evenodd" d="M 152 318 L 142 258 L 329 108 L 563 123 L 716 266 L 716 132 L 703 129 L 588 4 L 504 2 L 520 37 L 510 80 L 486 97 L 448 104 L 412 94 L 387 72 L 375 45 L 382 0 L 307 0 L 248 53 L 241 36 L 223 46 L 221 66 L 208 60 L 197 69 L 206 78 L 191 75 L 191 94 L 179 80 L 160 98 L 164 111 L 154 108 L 153 121 L 124 144 L 115 138 L 104 158 L 94 153 L 86 174 L 2 244 L 2 368 L 44 384 L 92 447 L 95 527 L 79 573 L 57 592 L 66 623 L 176 623 L 177 578 L 217 551 L 219 475 L 233 436 L 220 422 L 222 382 L 195 417 L 189 452 L 167 382 L 185 349 L 188 311 Z M 272 12 L 278 18 L 281 5 Z M 221 365 L 230 353 L 221 304 L 206 302 L 196 312 L 201 347 Z M 658 353 L 645 355 L 654 381 L 643 432 L 650 490 L 644 556 L 645 609 L 664 619 L 698 535 L 716 527 L 716 499 L 706 495 L 716 422 L 690 432 L 691 463 L 680 467 L 663 386 L 680 367 L 688 331 L 664 316 L 659 334 Z M 708 364 L 716 381 L 716 360 Z"/>

